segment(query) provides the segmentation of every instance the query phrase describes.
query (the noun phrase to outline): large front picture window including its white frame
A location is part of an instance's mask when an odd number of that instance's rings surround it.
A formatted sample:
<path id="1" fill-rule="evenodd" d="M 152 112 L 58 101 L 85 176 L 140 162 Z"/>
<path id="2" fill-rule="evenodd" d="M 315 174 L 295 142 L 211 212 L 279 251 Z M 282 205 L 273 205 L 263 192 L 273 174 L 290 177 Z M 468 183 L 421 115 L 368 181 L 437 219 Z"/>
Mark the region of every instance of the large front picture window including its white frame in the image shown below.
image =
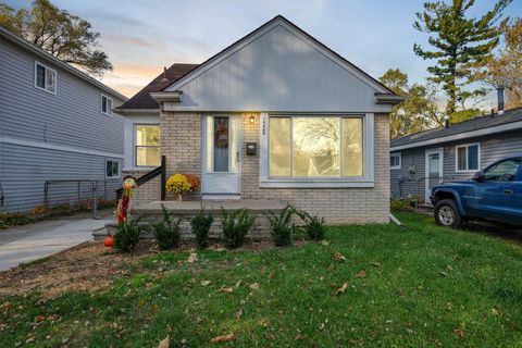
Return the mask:
<path id="1" fill-rule="evenodd" d="M 261 119 L 261 187 L 373 187 L 373 114 Z"/>

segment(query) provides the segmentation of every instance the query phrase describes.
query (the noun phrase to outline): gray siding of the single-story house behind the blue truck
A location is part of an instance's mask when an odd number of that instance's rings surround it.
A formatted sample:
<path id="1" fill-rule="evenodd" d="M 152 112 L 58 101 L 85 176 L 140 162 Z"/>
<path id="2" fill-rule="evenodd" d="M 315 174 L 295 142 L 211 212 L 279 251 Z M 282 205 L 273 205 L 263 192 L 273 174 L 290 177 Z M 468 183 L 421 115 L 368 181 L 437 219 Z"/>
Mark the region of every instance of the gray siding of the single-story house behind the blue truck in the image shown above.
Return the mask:
<path id="1" fill-rule="evenodd" d="M 460 181 L 469 179 L 473 173 L 461 173 L 456 171 L 456 146 L 465 144 L 480 144 L 481 169 L 510 156 L 522 153 L 522 130 L 493 134 L 481 138 L 470 138 L 460 141 L 452 141 L 440 145 L 444 148 L 444 179 Z M 424 184 L 417 184 L 425 176 L 425 151 L 437 147 L 419 147 L 400 152 L 402 166 L 400 170 L 390 171 L 391 197 L 407 197 L 408 195 L 424 195 Z M 409 174 L 408 169 L 417 165 L 417 172 Z M 401 182 L 401 177 L 406 178 Z M 420 183 L 420 182 L 419 182 Z"/>

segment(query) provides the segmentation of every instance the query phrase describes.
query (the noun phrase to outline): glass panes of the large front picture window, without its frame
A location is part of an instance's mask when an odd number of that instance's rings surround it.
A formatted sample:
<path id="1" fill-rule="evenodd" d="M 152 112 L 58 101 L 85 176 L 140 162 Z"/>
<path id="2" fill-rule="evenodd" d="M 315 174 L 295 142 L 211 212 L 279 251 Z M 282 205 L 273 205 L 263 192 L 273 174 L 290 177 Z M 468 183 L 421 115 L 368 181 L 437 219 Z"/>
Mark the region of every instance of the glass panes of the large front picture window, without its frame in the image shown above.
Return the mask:
<path id="1" fill-rule="evenodd" d="M 271 116 L 270 177 L 363 175 L 360 116 Z"/>

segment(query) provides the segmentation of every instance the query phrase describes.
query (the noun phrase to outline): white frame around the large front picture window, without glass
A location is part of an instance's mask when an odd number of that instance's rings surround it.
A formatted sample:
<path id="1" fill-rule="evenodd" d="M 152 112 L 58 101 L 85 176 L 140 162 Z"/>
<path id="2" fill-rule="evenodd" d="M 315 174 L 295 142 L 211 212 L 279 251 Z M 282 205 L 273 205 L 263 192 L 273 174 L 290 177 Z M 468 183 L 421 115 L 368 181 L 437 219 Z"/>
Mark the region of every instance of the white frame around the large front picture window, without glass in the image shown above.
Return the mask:
<path id="1" fill-rule="evenodd" d="M 373 113 L 313 113 L 313 114 L 271 114 L 288 117 L 361 117 L 362 116 L 362 173 L 363 176 L 338 177 L 271 177 L 269 173 L 269 113 L 261 113 L 260 126 L 260 187 L 266 188 L 341 188 L 374 187 L 374 114 Z"/>

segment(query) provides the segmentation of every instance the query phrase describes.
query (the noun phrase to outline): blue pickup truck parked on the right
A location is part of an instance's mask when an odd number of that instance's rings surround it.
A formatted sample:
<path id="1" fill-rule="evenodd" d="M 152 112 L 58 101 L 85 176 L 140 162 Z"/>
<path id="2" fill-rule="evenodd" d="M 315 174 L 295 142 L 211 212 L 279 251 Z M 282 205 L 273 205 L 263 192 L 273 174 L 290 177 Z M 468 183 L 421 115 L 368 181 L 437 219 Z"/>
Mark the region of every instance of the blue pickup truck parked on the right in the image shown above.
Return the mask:
<path id="1" fill-rule="evenodd" d="M 522 154 L 502 159 L 472 179 L 432 188 L 437 225 L 459 228 L 469 220 L 522 225 Z"/>

